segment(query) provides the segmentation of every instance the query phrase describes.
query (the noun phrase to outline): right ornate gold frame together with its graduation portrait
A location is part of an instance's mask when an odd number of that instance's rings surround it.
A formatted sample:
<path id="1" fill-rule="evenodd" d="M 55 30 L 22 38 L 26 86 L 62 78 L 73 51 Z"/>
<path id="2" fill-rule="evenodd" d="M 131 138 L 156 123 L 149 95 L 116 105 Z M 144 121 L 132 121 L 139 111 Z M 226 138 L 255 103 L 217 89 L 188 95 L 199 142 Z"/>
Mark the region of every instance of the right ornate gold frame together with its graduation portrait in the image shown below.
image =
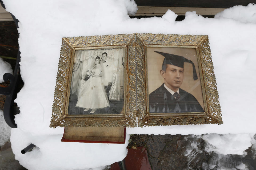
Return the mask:
<path id="1" fill-rule="evenodd" d="M 223 123 L 208 36 L 136 33 L 136 38 L 139 127 Z M 163 67 L 177 73 L 175 78 Z M 179 89 L 178 96 L 166 85 Z"/>

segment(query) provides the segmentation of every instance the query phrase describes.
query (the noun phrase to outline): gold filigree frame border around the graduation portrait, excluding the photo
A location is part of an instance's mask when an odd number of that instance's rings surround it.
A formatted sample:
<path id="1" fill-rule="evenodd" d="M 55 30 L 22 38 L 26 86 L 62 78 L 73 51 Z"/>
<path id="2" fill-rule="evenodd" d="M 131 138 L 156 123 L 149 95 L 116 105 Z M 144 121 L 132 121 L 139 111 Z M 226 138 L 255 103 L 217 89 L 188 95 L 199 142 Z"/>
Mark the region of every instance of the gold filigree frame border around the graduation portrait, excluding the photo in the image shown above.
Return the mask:
<path id="1" fill-rule="evenodd" d="M 159 125 L 223 124 L 208 36 L 136 33 L 136 38 L 137 114 L 139 127 Z M 168 114 L 149 113 L 147 47 L 196 49 L 205 112 Z"/>

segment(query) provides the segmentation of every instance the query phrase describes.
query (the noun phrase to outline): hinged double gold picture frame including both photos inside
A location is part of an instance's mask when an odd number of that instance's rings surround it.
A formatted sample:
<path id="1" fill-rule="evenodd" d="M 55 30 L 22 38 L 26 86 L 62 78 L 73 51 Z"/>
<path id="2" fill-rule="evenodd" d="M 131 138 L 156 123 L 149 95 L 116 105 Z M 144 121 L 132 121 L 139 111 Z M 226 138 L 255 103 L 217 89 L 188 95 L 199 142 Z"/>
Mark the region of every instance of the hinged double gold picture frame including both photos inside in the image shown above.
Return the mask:
<path id="1" fill-rule="evenodd" d="M 105 60 L 112 62 L 104 65 Z M 111 66 L 111 74 L 103 66 Z M 99 83 L 107 75 L 113 78 Z M 156 100 L 163 91 L 162 99 Z M 88 96 L 93 104 L 102 99 L 98 110 L 84 105 L 91 102 Z M 168 105 L 169 100 L 174 104 Z M 133 33 L 62 38 L 52 111 L 52 128 L 222 124 L 208 36 Z"/>

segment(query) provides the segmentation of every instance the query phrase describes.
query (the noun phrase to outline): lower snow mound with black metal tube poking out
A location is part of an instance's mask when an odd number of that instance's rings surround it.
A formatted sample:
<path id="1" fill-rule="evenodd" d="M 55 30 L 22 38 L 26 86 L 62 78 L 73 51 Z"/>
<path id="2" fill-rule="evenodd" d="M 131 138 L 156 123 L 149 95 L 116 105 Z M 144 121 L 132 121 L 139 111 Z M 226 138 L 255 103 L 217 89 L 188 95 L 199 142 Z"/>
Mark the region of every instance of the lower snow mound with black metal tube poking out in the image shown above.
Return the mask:
<path id="1" fill-rule="evenodd" d="M 19 128 L 11 129 L 10 140 L 15 159 L 27 169 L 44 170 L 62 167 L 71 170 L 103 167 L 123 160 L 127 154 L 129 135 L 126 144 L 60 142 L 62 136 L 34 136 Z M 21 150 L 30 143 L 37 147 L 31 152 L 21 154 Z"/>

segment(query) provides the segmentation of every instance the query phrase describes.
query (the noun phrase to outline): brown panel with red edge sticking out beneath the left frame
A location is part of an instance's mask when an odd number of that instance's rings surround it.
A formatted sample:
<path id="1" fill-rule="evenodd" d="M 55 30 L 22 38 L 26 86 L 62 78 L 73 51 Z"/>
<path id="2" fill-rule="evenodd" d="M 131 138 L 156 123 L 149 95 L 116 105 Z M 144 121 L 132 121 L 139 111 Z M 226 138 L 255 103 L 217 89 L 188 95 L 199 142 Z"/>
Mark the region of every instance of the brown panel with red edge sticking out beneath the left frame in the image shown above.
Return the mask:
<path id="1" fill-rule="evenodd" d="M 66 127 L 62 142 L 125 143 L 125 128 Z M 97 142 L 98 141 L 98 142 Z"/>

